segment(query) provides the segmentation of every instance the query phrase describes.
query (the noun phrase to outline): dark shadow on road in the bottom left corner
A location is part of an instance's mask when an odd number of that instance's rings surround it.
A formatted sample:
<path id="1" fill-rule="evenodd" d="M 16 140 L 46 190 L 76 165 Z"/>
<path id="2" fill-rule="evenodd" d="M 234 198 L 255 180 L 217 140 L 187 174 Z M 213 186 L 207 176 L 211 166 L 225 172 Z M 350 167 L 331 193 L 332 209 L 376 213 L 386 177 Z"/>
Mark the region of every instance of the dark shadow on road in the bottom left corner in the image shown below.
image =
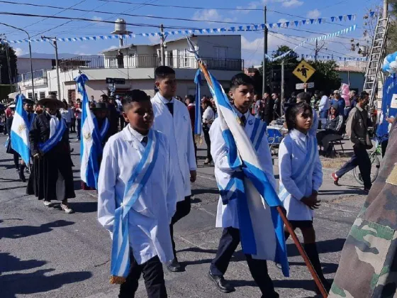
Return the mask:
<path id="1" fill-rule="evenodd" d="M 52 289 L 88 280 L 91 272 L 67 272 L 47 276 L 48 272 L 55 269 L 37 270 L 31 273 L 14 273 L 9 275 L 0 275 L 1 297 L 14 298 L 17 294 L 34 294 L 48 292 Z"/>

